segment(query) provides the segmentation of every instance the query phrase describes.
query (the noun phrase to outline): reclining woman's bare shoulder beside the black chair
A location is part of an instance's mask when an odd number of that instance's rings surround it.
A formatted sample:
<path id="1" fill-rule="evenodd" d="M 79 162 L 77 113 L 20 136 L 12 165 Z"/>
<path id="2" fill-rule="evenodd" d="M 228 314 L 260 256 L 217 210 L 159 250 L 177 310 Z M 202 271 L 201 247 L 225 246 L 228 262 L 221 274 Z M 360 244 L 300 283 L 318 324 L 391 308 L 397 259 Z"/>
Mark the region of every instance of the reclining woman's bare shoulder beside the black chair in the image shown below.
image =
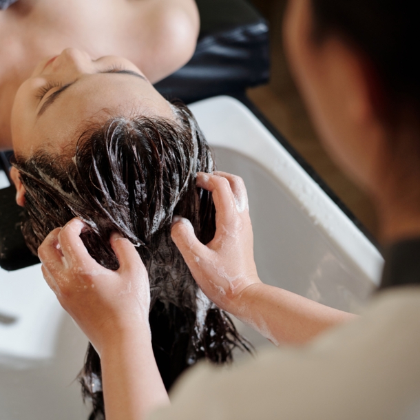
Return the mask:
<path id="1" fill-rule="evenodd" d="M 127 0 L 127 6 L 133 12 L 127 43 L 142 44 L 140 68 L 152 82 L 189 61 L 200 29 L 194 0 Z"/>

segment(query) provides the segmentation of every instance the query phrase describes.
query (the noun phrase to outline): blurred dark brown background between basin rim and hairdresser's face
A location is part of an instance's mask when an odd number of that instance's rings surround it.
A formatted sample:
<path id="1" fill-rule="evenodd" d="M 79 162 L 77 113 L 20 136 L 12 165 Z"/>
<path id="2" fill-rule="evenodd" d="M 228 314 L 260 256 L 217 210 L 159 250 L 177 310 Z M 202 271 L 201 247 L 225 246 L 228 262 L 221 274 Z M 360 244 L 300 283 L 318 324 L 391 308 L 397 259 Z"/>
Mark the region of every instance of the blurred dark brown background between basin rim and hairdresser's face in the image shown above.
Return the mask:
<path id="1" fill-rule="evenodd" d="M 250 1 L 269 21 L 271 78 L 269 84 L 247 90 L 249 98 L 377 238 L 377 217 L 372 203 L 324 151 L 288 70 L 282 40 L 286 0 Z"/>

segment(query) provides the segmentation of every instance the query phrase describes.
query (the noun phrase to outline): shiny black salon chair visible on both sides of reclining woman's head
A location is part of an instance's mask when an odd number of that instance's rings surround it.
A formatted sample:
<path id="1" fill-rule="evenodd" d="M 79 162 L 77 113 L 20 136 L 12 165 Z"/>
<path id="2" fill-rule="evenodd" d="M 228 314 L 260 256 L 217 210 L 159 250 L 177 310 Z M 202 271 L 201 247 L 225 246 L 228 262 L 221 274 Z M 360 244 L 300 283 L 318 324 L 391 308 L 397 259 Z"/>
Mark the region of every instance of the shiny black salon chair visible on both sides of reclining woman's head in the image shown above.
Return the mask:
<path id="1" fill-rule="evenodd" d="M 196 0 L 201 30 L 196 52 L 178 72 L 156 84 L 166 98 L 185 103 L 231 94 L 244 97 L 246 87 L 269 79 L 269 28 L 246 0 Z M 12 151 L 0 152 L 0 169 L 8 176 Z M 21 233 L 22 211 L 15 189 L 0 189 L 0 266 L 8 271 L 39 262 Z"/>

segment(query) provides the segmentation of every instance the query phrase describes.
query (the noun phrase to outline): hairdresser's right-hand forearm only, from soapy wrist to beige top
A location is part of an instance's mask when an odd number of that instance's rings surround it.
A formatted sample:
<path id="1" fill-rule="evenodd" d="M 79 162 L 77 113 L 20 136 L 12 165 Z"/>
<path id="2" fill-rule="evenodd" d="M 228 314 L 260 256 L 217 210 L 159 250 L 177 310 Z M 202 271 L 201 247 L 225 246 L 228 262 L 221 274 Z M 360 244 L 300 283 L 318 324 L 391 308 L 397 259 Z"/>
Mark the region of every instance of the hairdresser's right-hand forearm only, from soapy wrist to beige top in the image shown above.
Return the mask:
<path id="1" fill-rule="evenodd" d="M 244 289 L 233 307 L 233 315 L 275 344 L 304 344 L 324 330 L 356 317 L 263 283 Z"/>

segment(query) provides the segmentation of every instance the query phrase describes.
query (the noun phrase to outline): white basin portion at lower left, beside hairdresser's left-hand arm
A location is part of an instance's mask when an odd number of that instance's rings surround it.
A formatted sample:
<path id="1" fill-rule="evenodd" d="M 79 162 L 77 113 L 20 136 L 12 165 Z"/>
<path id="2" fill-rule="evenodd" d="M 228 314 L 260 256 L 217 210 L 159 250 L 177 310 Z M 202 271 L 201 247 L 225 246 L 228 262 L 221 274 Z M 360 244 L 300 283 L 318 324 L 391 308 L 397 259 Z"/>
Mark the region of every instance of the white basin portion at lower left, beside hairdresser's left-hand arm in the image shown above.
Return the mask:
<path id="1" fill-rule="evenodd" d="M 0 270 L 1 420 L 87 419 L 74 381 L 86 349 L 87 339 L 45 284 L 40 265 Z"/>

